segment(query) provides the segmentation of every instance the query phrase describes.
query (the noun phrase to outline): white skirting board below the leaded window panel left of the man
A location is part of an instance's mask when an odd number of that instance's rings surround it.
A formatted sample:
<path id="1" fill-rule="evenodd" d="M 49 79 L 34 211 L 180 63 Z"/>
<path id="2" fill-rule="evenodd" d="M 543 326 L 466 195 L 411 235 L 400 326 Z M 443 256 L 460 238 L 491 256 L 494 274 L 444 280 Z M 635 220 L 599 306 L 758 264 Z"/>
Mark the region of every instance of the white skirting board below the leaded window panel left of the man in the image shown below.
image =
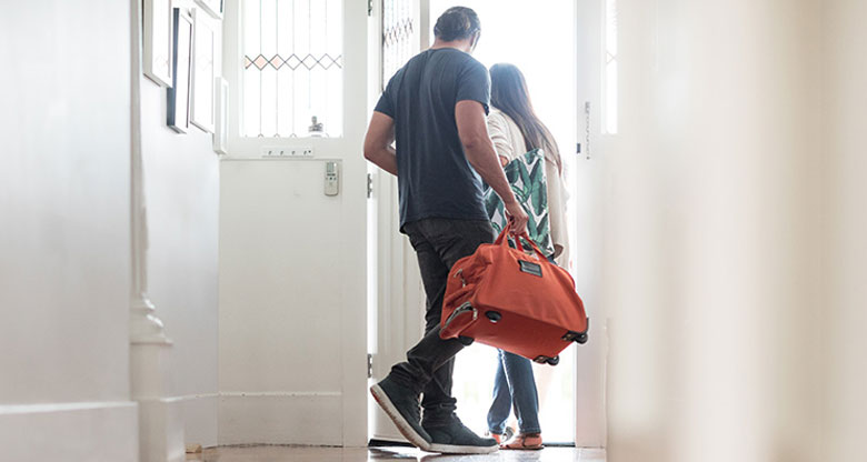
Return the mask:
<path id="1" fill-rule="evenodd" d="M 341 445 L 342 395 L 220 393 L 219 443 Z"/>

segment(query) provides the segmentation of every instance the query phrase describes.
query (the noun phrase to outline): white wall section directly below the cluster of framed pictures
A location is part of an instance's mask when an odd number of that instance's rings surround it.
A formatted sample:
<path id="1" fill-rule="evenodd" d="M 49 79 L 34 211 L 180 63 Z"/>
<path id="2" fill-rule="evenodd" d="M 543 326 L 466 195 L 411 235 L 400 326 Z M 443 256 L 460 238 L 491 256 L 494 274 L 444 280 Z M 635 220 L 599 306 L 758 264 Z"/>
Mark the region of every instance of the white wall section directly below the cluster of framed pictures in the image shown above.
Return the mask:
<path id="1" fill-rule="evenodd" d="M 191 127 L 178 134 L 166 125 L 166 89 L 143 76 L 141 106 L 148 291 L 175 342 L 173 394 L 185 398 L 186 440 L 216 445 L 219 159 L 210 133 Z"/>

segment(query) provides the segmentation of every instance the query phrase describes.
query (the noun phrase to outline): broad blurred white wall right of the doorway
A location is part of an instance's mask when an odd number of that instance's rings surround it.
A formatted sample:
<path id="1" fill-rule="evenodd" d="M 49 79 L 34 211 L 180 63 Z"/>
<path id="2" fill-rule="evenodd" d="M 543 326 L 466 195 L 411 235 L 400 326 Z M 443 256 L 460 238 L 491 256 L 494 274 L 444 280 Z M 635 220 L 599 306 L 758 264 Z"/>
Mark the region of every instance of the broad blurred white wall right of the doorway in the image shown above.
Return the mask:
<path id="1" fill-rule="evenodd" d="M 609 460 L 818 460 L 819 2 L 618 3 Z"/>

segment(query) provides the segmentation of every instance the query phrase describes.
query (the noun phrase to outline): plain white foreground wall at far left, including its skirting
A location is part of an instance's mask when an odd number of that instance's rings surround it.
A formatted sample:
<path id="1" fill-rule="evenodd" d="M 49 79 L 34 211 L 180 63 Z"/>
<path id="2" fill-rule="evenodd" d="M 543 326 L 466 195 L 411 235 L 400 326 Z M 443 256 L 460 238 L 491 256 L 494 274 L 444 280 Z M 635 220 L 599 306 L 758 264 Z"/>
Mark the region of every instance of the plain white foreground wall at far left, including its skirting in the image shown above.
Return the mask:
<path id="1" fill-rule="evenodd" d="M 7 3 L 0 460 L 133 461 L 129 2 Z"/>

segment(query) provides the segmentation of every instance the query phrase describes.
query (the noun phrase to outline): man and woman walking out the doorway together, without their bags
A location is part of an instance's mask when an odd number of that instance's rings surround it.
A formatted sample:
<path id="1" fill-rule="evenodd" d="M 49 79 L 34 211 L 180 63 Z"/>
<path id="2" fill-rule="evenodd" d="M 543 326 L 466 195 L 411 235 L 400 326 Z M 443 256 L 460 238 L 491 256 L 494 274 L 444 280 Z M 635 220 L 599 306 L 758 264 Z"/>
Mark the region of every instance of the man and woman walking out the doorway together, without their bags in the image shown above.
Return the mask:
<path id="1" fill-rule="evenodd" d="M 557 144 L 536 118 L 520 71 L 497 64 L 489 73 L 470 56 L 480 31 L 478 16 L 469 8 L 455 7 L 442 13 L 434 30 L 434 46 L 389 81 L 365 140 L 365 157 L 398 177 L 400 231 L 416 250 L 427 294 L 425 337 L 407 352 L 406 362 L 395 364 L 370 390 L 398 430 L 429 452 L 487 453 L 497 451 L 500 443 L 509 449 L 541 448 L 536 383 L 525 358 L 499 351 L 488 414 L 494 438 L 476 435 L 455 414 L 454 356 L 472 339 L 442 340 L 439 322 L 451 265 L 479 244 L 494 242 L 482 181 L 502 199 L 512 229 L 522 232 L 528 217 L 504 167 L 541 148 L 555 249 L 547 257 L 560 255 L 566 247 L 566 194 Z M 391 147 L 395 141 L 396 149 Z M 512 405 L 520 428 L 507 443 L 501 440 Z"/>

